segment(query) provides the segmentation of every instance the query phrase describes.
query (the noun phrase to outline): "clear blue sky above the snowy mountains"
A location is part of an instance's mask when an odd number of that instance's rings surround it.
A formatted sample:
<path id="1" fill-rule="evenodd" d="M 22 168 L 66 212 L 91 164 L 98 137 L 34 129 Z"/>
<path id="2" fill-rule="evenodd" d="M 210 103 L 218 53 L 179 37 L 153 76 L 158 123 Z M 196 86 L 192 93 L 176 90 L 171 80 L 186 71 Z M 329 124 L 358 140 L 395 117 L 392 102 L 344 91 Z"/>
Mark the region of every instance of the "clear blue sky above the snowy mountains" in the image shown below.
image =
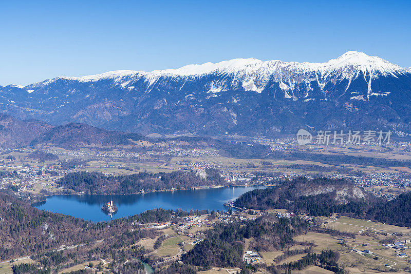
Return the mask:
<path id="1" fill-rule="evenodd" d="M 0 0 L 0 85 L 348 50 L 410 67 L 409 14 L 411 1 Z"/>

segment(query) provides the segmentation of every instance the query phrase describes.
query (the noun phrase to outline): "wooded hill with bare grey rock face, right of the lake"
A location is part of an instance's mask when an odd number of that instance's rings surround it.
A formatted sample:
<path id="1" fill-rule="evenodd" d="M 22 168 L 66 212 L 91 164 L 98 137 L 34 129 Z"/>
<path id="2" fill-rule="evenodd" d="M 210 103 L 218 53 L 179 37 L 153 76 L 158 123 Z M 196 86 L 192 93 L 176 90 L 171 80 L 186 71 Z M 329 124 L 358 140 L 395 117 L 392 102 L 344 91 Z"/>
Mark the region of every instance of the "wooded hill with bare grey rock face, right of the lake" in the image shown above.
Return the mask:
<path id="1" fill-rule="evenodd" d="M 340 213 L 392 225 L 411 226 L 411 192 L 386 201 L 372 197 L 346 180 L 298 178 L 278 187 L 244 193 L 235 204 L 254 209 L 287 208 L 311 216 Z"/>

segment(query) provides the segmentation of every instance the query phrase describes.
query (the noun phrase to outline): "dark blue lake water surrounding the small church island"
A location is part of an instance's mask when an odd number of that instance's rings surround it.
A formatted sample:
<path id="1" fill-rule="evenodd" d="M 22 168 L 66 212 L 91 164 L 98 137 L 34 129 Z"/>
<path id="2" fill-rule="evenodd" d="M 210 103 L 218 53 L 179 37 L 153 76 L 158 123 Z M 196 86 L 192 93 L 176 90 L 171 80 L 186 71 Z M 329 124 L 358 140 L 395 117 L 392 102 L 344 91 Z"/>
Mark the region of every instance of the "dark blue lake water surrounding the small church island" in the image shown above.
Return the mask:
<path id="1" fill-rule="evenodd" d="M 148 209 L 183 209 L 183 210 L 228 210 L 223 204 L 234 200 L 247 191 L 266 188 L 266 186 L 234 186 L 196 190 L 178 190 L 151 192 L 128 195 L 55 195 L 47 201 L 33 206 L 51 212 L 63 213 L 93 222 L 111 219 L 101 207 L 104 203 L 113 202 L 118 211 L 113 219 L 128 217 Z"/>

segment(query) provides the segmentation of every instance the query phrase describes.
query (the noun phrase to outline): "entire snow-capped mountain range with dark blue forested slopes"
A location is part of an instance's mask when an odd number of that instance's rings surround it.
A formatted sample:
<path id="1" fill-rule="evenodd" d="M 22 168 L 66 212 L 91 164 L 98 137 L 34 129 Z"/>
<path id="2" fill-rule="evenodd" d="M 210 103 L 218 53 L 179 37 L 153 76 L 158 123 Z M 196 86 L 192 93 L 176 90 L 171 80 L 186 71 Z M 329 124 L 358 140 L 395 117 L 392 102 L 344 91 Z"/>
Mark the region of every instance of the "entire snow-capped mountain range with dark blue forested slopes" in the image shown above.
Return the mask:
<path id="1" fill-rule="evenodd" d="M 409 68 L 348 51 L 325 63 L 239 58 L 57 77 L 0 88 L 0 108 L 23 119 L 143 133 L 272 135 L 358 125 L 352 116 L 370 113 L 376 127 L 408 131 L 410 95 Z"/>

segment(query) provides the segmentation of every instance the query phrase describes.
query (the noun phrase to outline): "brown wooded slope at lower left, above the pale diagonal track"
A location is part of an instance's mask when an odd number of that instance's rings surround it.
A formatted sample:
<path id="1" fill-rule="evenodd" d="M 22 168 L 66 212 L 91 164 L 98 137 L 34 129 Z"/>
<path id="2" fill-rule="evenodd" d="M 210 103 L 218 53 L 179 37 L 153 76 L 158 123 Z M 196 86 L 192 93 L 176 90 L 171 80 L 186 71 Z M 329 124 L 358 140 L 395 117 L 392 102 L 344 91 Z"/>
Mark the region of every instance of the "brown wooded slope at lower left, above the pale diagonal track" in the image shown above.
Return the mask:
<path id="1" fill-rule="evenodd" d="M 8 194 L 0 193 L 0 260 L 34 255 L 46 250 L 111 239 L 113 243 L 138 241 L 151 230 L 134 230 L 132 223 L 165 222 L 171 210 L 155 209 L 111 222 L 91 223 L 71 216 L 32 207 Z M 79 259 L 80 260 L 80 259 Z"/>

